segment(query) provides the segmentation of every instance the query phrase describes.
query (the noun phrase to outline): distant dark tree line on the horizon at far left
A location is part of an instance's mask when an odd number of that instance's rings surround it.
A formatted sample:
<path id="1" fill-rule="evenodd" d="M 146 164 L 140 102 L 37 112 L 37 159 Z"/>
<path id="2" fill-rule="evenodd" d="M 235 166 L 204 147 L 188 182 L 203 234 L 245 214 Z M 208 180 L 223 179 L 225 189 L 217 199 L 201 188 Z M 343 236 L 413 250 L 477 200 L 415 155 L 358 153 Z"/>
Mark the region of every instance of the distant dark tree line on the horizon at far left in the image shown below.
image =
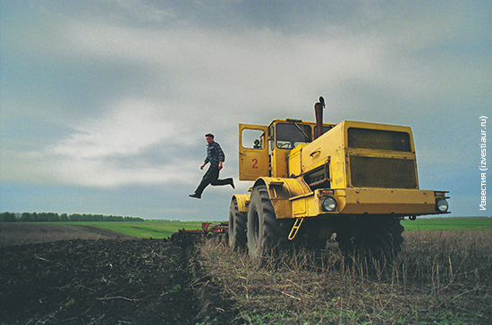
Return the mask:
<path id="1" fill-rule="evenodd" d="M 2 212 L 0 222 L 55 222 L 55 221 L 145 221 L 140 217 L 120 217 L 102 214 L 58 214 L 55 212 Z"/>

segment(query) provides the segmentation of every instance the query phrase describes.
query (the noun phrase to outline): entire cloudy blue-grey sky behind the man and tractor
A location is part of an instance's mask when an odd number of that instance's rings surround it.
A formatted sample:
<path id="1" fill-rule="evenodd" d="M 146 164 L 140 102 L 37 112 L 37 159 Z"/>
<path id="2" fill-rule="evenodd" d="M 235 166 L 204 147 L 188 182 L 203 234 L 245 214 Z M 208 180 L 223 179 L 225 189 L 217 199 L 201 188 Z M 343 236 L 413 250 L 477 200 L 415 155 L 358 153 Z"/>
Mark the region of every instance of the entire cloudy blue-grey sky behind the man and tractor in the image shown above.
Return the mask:
<path id="1" fill-rule="evenodd" d="M 420 188 L 491 216 L 490 17 L 488 0 L 2 1 L 0 212 L 227 220 L 252 185 L 238 124 L 314 121 L 324 96 L 327 123 L 410 126 Z M 236 188 L 197 200 L 208 132 Z"/>

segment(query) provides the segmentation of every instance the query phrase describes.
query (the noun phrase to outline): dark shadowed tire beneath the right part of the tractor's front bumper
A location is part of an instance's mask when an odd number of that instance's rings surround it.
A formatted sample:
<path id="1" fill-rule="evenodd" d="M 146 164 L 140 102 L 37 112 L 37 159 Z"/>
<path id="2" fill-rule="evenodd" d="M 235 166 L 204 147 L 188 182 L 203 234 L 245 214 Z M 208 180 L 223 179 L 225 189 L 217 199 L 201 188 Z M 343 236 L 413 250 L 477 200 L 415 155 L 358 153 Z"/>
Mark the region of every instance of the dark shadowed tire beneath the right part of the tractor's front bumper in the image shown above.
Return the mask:
<path id="1" fill-rule="evenodd" d="M 400 219 L 391 216 L 361 216 L 339 223 L 336 241 L 345 253 L 392 258 L 400 252 L 402 233 Z"/>

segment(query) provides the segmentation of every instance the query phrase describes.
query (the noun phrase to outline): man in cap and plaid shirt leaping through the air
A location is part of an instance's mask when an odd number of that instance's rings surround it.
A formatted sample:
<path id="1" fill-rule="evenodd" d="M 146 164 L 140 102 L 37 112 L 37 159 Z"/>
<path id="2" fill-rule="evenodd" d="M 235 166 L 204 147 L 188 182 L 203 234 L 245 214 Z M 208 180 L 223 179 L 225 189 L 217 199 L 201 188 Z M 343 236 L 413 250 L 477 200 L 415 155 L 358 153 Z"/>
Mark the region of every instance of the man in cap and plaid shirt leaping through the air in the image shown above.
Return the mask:
<path id="1" fill-rule="evenodd" d="M 205 187 L 208 187 L 208 184 L 212 186 L 221 186 L 221 185 L 230 185 L 233 188 L 234 182 L 232 178 L 228 179 L 218 179 L 218 173 L 222 170 L 222 164 L 225 162 L 225 154 L 222 151 L 222 148 L 218 143 L 214 141 L 214 135 L 208 133 L 205 135 L 207 138 L 207 157 L 205 158 L 205 162 L 199 167 L 200 170 L 203 170 L 205 165 L 210 162 L 210 167 L 208 167 L 208 171 L 203 175 L 203 179 L 199 183 L 199 187 L 195 190 L 195 193 L 191 194 L 191 197 L 201 198 L 201 194 Z"/>

